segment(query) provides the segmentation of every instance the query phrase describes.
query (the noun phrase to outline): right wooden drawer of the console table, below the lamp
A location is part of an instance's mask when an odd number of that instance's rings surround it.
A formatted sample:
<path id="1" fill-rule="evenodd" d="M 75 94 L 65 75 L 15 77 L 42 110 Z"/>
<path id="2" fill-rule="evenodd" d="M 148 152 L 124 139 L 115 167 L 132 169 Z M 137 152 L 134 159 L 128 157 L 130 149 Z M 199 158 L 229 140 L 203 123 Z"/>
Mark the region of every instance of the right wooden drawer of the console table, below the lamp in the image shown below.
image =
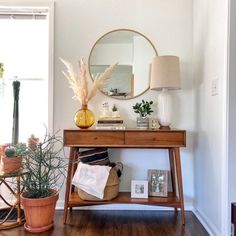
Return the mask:
<path id="1" fill-rule="evenodd" d="M 165 132 L 126 132 L 125 145 L 147 146 L 147 147 L 185 147 L 184 131 Z"/>

